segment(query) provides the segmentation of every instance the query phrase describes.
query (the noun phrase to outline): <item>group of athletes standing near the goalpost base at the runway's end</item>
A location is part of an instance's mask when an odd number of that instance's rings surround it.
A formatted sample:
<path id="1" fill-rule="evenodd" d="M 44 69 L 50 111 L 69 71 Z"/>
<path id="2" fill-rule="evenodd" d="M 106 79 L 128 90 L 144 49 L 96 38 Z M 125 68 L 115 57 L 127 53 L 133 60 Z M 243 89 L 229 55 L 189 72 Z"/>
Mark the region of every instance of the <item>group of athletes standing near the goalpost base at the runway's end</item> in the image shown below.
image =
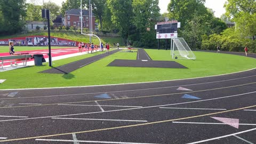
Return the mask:
<path id="1" fill-rule="evenodd" d="M 93 53 L 94 48 L 95 47 L 97 48 L 97 45 L 94 45 L 93 43 L 90 44 L 90 43 L 80 42 L 77 46 L 78 46 L 78 52 L 83 52 L 84 48 L 85 48 L 85 51 L 87 51 L 89 53 L 89 50 L 90 50 L 90 47 L 91 47 L 91 53 Z M 110 49 L 109 43 L 106 43 L 105 47 L 106 47 L 107 52 L 109 53 L 109 49 Z M 101 43 L 100 44 L 100 51 L 103 52 L 103 49 L 104 49 L 104 46 L 103 46 L 103 43 Z"/>

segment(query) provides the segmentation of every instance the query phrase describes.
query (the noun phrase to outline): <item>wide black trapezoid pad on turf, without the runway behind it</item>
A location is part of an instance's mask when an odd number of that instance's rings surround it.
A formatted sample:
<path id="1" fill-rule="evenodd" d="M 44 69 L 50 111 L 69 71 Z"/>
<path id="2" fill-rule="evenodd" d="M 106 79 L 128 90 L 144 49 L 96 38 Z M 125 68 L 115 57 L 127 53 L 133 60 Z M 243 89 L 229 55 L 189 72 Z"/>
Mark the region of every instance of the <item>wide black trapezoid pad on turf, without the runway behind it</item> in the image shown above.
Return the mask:
<path id="1" fill-rule="evenodd" d="M 114 60 L 108 66 L 112 67 L 148 67 L 148 68 L 187 68 L 175 61 L 142 61 L 142 60 Z"/>

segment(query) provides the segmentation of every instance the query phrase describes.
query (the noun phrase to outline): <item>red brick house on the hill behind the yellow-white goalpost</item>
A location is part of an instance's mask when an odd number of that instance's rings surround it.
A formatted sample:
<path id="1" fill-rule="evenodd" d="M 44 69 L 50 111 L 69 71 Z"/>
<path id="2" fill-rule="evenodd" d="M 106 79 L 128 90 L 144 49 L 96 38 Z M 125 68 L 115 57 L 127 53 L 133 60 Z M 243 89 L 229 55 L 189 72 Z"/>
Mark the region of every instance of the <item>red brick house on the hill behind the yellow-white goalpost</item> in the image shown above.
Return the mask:
<path id="1" fill-rule="evenodd" d="M 64 26 L 90 28 L 89 10 L 82 10 L 82 23 L 81 23 L 81 9 L 67 10 L 62 18 Z M 92 13 L 92 29 L 95 29 L 95 16 Z"/>

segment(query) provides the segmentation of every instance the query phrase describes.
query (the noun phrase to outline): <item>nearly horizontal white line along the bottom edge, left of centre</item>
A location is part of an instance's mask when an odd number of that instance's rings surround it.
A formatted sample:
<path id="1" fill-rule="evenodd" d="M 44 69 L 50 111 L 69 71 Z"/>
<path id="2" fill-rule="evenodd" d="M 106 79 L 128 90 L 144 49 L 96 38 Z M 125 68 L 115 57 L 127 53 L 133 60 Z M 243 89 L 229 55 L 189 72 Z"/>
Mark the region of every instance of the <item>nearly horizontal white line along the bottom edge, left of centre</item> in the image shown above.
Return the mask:
<path id="1" fill-rule="evenodd" d="M 58 139 L 36 139 L 37 141 L 65 141 L 74 142 L 74 140 L 58 140 Z M 138 143 L 138 142 L 115 142 L 115 141 L 87 141 L 78 140 L 77 142 L 91 142 L 91 143 L 114 143 L 114 144 L 159 144 L 159 143 Z"/>

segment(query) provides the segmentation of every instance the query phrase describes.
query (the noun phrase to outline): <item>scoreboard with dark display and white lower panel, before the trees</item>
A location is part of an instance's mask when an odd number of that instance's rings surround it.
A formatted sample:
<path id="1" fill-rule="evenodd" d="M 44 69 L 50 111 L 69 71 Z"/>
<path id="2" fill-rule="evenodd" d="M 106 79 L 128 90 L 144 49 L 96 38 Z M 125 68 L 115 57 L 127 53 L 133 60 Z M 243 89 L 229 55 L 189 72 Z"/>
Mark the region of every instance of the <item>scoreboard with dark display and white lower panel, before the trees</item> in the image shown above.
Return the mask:
<path id="1" fill-rule="evenodd" d="M 155 25 L 156 38 L 157 39 L 170 39 L 178 37 L 178 28 L 180 28 L 180 22 L 178 21 L 165 21 L 158 22 Z"/>

